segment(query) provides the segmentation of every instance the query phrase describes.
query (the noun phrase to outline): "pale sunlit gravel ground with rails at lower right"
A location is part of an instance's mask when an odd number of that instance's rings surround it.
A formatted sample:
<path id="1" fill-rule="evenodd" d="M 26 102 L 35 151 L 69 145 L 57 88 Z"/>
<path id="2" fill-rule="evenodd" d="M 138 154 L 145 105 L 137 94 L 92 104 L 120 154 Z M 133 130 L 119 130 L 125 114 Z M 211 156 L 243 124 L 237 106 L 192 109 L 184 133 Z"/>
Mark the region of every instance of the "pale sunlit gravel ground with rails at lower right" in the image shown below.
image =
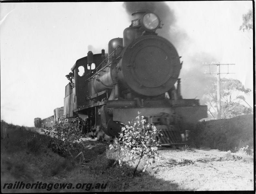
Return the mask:
<path id="1" fill-rule="evenodd" d="M 252 161 L 180 150 L 159 150 L 159 153 L 160 161 L 148 171 L 154 171 L 156 178 L 178 184 L 183 190 L 253 190 Z M 197 162 L 177 162 L 164 158 L 164 155 Z M 234 174 L 225 168 L 238 173 Z"/>

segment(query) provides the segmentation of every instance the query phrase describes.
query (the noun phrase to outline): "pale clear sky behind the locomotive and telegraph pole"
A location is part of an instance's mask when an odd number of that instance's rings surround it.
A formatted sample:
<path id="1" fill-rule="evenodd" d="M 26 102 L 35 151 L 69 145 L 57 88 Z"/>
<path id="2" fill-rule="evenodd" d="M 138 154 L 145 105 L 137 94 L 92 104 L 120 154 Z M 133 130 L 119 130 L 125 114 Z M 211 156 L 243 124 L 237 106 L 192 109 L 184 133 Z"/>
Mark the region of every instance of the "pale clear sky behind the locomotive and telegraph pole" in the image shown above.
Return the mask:
<path id="1" fill-rule="evenodd" d="M 208 70 L 203 63 L 235 63 L 229 68 L 235 74 L 221 77 L 238 79 L 253 90 L 253 33 L 239 30 L 252 1 L 165 4 L 174 20 L 163 36 L 182 56 L 183 98 L 200 99 L 207 78 L 202 72 Z M 76 60 L 85 57 L 88 48 L 94 54 L 103 48 L 107 52 L 108 41 L 122 38 L 130 23 L 123 2 L 1 2 L 1 119 L 33 126 L 34 118 L 53 115 L 63 106 L 65 75 Z M 221 67 L 221 72 L 227 69 Z M 253 106 L 252 92 L 246 101 Z"/>

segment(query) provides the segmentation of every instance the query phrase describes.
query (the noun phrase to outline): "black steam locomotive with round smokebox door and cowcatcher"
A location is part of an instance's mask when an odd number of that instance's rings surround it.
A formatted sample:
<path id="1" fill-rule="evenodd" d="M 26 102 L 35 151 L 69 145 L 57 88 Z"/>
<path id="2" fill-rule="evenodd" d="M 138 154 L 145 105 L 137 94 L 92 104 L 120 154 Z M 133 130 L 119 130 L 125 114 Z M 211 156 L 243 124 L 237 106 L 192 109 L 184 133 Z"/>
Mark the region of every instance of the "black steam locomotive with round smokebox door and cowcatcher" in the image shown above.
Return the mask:
<path id="1" fill-rule="evenodd" d="M 162 145 L 186 143 L 196 122 L 207 117 L 207 107 L 182 98 L 181 57 L 172 43 L 157 35 L 160 18 L 149 10 L 132 16 L 123 38 L 109 41 L 108 54 L 104 49 L 100 54 L 89 51 L 66 75 L 63 115 L 81 118 L 86 133 L 96 129 L 103 138 L 118 136 L 139 112 L 161 129 L 163 136 L 157 138 Z"/>

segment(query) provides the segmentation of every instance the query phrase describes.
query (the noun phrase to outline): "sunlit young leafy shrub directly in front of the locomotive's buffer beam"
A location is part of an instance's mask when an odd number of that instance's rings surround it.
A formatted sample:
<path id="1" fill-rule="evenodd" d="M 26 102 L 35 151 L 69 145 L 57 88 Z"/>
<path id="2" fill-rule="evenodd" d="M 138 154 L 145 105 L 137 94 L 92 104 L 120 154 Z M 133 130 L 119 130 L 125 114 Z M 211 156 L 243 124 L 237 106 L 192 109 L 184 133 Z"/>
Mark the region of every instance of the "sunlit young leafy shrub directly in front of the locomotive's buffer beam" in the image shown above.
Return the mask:
<path id="1" fill-rule="evenodd" d="M 159 142 L 156 141 L 156 136 L 160 134 L 160 130 L 155 126 L 146 123 L 143 116 L 138 115 L 134 124 L 128 122 L 119 133 L 119 138 L 115 138 L 110 149 L 116 151 L 123 151 L 125 156 L 129 156 L 129 160 L 139 157 L 139 162 L 135 167 L 134 174 L 139 166 L 141 159 L 145 156 L 147 158 L 146 165 L 143 167 L 143 172 L 154 159 L 158 158 L 157 146 Z M 128 149 L 127 149 L 128 148 Z M 150 162 L 150 158 L 153 160 Z M 122 157 L 119 155 L 118 163 L 122 166 Z"/>

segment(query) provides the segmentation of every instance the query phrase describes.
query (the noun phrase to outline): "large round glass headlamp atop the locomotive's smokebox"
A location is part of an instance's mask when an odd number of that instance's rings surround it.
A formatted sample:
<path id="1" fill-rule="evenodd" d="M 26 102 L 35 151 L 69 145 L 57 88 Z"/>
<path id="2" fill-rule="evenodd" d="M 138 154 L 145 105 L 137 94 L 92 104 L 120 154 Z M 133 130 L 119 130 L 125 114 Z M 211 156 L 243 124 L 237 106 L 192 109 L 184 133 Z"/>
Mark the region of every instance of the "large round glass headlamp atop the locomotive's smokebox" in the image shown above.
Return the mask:
<path id="1" fill-rule="evenodd" d="M 142 25 L 146 30 L 156 30 L 160 25 L 160 20 L 157 15 L 153 13 L 146 13 L 142 16 Z"/>

